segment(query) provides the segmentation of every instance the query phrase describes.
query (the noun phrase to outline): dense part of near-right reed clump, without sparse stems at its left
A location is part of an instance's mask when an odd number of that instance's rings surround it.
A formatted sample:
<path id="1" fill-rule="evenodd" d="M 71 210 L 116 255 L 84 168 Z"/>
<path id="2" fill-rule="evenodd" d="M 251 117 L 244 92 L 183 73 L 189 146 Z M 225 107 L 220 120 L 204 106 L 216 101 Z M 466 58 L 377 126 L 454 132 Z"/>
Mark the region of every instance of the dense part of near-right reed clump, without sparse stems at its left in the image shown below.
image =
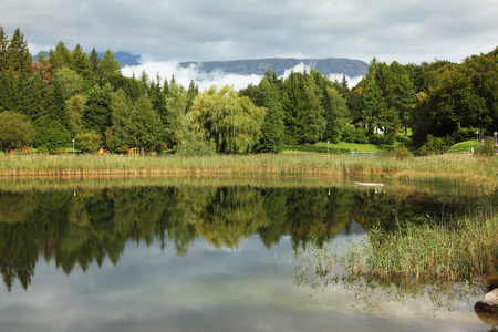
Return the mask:
<path id="1" fill-rule="evenodd" d="M 359 260 L 357 252 L 350 252 L 346 266 L 351 273 L 381 279 L 474 280 L 498 268 L 497 235 L 496 216 L 461 219 L 456 227 L 408 225 L 398 232 L 372 231 L 362 249 L 365 255 Z"/>

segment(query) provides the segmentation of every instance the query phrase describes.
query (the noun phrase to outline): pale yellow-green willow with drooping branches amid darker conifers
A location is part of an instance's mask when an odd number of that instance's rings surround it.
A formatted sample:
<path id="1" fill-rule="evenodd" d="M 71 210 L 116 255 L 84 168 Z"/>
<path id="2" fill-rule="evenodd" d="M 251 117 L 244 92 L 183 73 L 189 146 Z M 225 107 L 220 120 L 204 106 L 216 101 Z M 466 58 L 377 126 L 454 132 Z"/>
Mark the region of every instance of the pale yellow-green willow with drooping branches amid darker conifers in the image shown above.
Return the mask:
<path id="1" fill-rule="evenodd" d="M 261 135 L 266 108 L 231 86 L 211 86 L 194 100 L 188 115 L 197 138 L 212 142 L 218 153 L 247 153 Z"/>

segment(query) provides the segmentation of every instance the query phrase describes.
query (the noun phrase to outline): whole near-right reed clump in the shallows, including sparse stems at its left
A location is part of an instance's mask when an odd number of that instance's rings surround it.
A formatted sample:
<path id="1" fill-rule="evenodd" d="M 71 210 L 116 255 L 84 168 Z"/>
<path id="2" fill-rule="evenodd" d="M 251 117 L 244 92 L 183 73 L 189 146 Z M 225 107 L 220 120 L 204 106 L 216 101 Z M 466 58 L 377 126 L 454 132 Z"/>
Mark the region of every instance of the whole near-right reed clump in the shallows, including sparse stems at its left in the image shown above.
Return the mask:
<path id="1" fill-rule="evenodd" d="M 297 256 L 318 276 L 423 284 L 474 281 L 496 273 L 498 217 L 464 218 L 452 225 L 425 222 L 387 232 L 375 228 L 343 248 L 311 248 Z M 340 252 L 340 253 L 338 253 Z"/>

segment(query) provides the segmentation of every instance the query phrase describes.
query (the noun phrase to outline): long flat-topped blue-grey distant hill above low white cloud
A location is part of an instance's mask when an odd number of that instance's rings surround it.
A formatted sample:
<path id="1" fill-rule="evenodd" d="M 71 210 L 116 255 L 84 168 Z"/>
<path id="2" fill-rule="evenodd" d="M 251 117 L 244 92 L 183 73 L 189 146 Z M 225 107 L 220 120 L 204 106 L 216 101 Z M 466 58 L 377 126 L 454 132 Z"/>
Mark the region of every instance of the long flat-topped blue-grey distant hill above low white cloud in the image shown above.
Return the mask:
<path id="1" fill-rule="evenodd" d="M 187 68 L 196 64 L 197 69 L 206 73 L 222 71 L 239 75 L 262 75 L 268 69 L 274 69 L 277 75 L 282 75 L 286 70 L 290 70 L 298 64 L 313 68 L 322 75 L 344 74 L 349 77 L 364 76 L 369 64 L 360 60 L 329 58 L 315 59 L 259 59 L 259 60 L 236 60 L 236 61 L 209 61 L 209 62 L 183 62 L 180 66 Z"/>

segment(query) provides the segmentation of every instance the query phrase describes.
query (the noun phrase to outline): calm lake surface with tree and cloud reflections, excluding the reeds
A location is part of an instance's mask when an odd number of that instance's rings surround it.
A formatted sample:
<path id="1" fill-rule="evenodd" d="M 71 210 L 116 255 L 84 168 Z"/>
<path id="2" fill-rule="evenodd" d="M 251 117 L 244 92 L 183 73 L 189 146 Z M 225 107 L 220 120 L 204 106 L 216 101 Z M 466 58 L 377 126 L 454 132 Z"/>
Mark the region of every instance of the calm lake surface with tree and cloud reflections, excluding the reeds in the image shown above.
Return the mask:
<path id="1" fill-rule="evenodd" d="M 303 247 L 489 214 L 445 188 L 68 185 L 0 190 L 0 331 L 491 331 L 481 288 L 325 281 Z"/>

